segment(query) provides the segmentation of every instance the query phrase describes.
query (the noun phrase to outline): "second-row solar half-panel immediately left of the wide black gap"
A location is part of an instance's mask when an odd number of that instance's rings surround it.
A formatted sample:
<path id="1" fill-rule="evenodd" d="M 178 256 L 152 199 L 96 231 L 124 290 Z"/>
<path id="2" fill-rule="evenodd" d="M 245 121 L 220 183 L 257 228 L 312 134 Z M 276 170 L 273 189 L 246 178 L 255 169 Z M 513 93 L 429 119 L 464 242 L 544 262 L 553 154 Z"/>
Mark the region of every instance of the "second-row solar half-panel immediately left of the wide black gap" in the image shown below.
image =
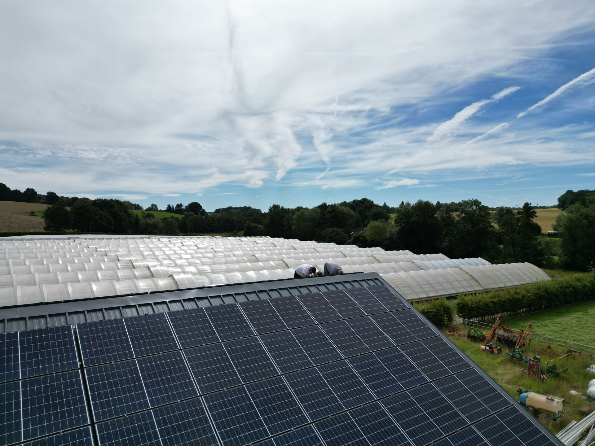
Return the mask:
<path id="1" fill-rule="evenodd" d="M 23 440 L 89 423 L 79 370 L 21 381 Z"/>

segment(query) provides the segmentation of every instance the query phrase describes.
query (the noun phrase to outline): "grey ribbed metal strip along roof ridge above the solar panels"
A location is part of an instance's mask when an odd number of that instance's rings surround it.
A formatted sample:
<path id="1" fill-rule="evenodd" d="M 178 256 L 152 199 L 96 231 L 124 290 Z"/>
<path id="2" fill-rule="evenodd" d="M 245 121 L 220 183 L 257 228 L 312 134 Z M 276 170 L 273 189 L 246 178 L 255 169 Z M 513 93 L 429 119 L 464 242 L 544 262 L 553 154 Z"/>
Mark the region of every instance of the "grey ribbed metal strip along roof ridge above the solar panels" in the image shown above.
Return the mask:
<path id="1" fill-rule="evenodd" d="M 375 272 L 281 279 L 0 308 L 0 333 L 380 284 Z M 390 287 L 390 285 L 389 285 Z M 391 287 L 392 289 L 392 287 Z"/>

